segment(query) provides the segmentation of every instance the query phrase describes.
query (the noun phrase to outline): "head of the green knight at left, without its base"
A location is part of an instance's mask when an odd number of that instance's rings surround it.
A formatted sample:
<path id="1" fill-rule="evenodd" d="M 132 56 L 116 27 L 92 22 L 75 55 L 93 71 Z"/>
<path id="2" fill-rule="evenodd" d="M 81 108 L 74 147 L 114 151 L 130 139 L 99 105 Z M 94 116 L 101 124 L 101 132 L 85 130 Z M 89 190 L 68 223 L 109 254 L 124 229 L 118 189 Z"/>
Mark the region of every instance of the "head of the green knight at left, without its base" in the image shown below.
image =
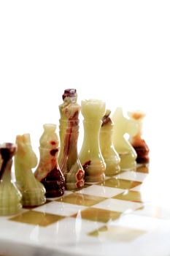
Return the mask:
<path id="1" fill-rule="evenodd" d="M 16 137 L 16 144 L 18 146 L 18 151 L 16 154 L 16 159 L 24 166 L 25 169 L 36 167 L 37 158 L 31 146 L 30 135 L 18 135 Z"/>

